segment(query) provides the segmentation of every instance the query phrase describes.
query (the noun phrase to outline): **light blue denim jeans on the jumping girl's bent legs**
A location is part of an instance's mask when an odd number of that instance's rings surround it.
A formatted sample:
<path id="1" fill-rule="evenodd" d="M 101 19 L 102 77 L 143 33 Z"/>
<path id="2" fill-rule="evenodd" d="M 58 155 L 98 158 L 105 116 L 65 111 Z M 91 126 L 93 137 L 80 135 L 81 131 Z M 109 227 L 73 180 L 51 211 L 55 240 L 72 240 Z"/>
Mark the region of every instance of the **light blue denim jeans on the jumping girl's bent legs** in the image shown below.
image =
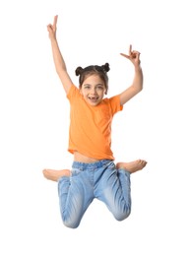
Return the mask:
<path id="1" fill-rule="evenodd" d="M 117 221 L 122 221 L 131 212 L 130 190 L 130 173 L 117 170 L 112 160 L 74 161 L 71 176 L 58 180 L 63 223 L 71 228 L 78 227 L 95 198 L 106 205 Z"/>

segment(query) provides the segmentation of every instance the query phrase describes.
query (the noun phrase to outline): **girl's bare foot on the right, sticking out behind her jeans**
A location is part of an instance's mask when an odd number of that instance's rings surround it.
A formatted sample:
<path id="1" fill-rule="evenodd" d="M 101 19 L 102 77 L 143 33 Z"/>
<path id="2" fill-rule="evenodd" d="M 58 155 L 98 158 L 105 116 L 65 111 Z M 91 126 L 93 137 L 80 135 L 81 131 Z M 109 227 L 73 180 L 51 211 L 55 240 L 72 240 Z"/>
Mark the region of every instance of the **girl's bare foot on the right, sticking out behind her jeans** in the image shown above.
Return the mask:
<path id="1" fill-rule="evenodd" d="M 134 173 L 138 170 L 143 169 L 147 164 L 146 160 L 134 160 L 129 162 L 117 162 L 117 169 L 123 168 L 129 171 L 130 173 Z"/>

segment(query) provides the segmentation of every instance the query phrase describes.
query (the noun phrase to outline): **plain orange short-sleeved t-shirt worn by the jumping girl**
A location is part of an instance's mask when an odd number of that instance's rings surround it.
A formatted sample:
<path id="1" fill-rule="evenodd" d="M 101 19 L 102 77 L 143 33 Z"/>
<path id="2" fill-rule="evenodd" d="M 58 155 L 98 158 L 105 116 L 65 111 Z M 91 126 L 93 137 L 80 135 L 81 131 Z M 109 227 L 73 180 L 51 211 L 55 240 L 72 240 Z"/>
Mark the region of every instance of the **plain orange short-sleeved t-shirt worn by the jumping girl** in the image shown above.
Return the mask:
<path id="1" fill-rule="evenodd" d="M 119 96 L 103 98 L 92 106 L 75 86 L 67 95 L 70 101 L 70 153 L 75 151 L 96 160 L 114 160 L 111 151 L 111 122 L 113 115 L 122 110 Z"/>

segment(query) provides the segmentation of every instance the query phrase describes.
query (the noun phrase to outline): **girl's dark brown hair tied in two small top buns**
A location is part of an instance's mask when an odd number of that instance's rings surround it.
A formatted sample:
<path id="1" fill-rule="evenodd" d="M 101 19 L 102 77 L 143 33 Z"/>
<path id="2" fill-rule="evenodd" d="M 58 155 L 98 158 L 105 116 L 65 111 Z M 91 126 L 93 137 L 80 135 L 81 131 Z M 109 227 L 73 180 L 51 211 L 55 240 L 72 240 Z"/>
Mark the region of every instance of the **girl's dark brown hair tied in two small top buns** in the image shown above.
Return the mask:
<path id="1" fill-rule="evenodd" d="M 97 66 L 97 65 L 91 65 L 88 66 L 86 68 L 82 68 L 82 67 L 78 67 L 75 71 L 76 76 L 80 76 L 79 78 L 79 86 L 80 89 L 82 88 L 82 85 L 84 83 L 84 81 L 92 75 L 97 75 L 104 83 L 105 89 L 106 89 L 106 93 L 107 94 L 107 90 L 108 90 L 108 76 L 107 76 L 107 72 L 110 70 L 109 68 L 109 64 L 105 63 L 102 66 Z"/>

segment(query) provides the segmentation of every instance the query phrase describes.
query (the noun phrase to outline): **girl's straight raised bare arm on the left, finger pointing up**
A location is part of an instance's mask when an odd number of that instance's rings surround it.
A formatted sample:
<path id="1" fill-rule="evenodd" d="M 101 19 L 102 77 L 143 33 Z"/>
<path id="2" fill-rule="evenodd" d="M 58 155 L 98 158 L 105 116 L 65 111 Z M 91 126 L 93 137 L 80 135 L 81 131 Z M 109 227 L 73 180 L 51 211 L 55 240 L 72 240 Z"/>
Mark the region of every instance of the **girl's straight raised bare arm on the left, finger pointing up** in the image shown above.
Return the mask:
<path id="1" fill-rule="evenodd" d="M 47 26 L 47 31 L 49 33 L 49 38 L 51 41 L 55 69 L 56 69 L 56 72 L 61 80 L 61 83 L 63 85 L 63 88 L 64 88 L 66 94 L 68 94 L 73 83 L 72 83 L 71 78 L 67 72 L 67 67 L 66 67 L 65 61 L 63 59 L 63 56 L 60 52 L 59 45 L 57 42 L 57 38 L 56 38 L 57 19 L 58 19 L 58 16 L 56 15 L 54 17 L 53 25 L 49 24 Z"/>

